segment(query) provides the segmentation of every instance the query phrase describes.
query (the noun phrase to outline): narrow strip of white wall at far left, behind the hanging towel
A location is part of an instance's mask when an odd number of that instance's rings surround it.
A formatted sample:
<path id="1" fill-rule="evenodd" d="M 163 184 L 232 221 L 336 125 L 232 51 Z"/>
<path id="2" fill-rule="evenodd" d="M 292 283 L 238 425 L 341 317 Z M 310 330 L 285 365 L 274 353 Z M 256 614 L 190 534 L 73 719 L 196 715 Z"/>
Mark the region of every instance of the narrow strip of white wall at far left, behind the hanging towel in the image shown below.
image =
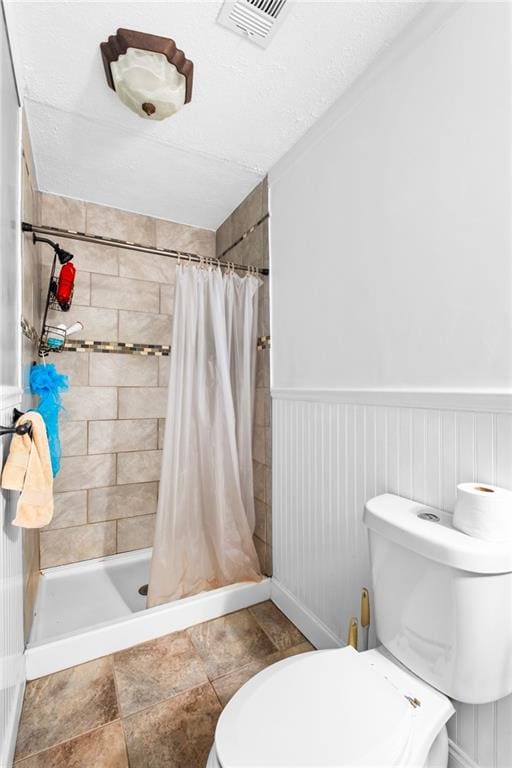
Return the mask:
<path id="1" fill-rule="evenodd" d="M 21 114 L 0 7 L 0 424 L 10 424 L 20 389 L 20 169 Z M 0 467 L 9 438 L 0 438 Z M 16 494 L 0 491 L 0 768 L 14 753 L 25 685 L 21 530 L 11 523 Z"/>

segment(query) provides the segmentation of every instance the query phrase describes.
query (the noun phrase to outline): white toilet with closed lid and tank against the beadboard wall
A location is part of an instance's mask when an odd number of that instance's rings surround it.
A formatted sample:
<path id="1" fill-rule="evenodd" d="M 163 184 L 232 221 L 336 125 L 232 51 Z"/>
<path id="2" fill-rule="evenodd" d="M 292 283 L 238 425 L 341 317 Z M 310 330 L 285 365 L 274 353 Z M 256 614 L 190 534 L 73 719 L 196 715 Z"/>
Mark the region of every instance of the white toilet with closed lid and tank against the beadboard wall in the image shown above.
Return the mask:
<path id="1" fill-rule="evenodd" d="M 364 522 L 379 646 L 257 674 L 222 712 L 207 768 L 446 768 L 448 697 L 512 692 L 512 547 L 393 494 L 371 499 Z"/>

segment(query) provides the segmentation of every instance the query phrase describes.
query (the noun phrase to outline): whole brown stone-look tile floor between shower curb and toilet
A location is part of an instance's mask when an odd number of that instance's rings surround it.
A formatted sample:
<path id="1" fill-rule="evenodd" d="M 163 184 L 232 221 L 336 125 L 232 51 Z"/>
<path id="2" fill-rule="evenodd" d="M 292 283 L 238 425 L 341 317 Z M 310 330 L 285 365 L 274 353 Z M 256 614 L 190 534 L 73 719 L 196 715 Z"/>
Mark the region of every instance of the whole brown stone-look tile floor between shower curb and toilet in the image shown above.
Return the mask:
<path id="1" fill-rule="evenodd" d="M 268 601 L 33 680 L 15 768 L 204 768 L 238 688 L 309 650 Z"/>

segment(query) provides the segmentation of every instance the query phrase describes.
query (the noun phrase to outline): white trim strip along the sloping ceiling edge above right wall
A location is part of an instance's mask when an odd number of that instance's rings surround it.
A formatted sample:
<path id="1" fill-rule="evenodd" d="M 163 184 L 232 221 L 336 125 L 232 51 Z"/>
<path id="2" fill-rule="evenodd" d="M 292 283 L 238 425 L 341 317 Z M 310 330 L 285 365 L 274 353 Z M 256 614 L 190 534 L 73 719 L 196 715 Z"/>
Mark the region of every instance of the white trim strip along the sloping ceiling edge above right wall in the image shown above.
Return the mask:
<path id="1" fill-rule="evenodd" d="M 428 3 L 425 9 L 412 20 L 393 43 L 384 48 L 355 83 L 341 98 L 317 120 L 291 149 L 281 157 L 268 172 L 269 187 L 278 182 L 303 155 L 309 152 L 334 126 L 344 120 L 354 106 L 365 97 L 375 80 L 385 74 L 396 61 L 406 58 L 430 35 L 440 29 L 446 20 L 464 3 Z"/>

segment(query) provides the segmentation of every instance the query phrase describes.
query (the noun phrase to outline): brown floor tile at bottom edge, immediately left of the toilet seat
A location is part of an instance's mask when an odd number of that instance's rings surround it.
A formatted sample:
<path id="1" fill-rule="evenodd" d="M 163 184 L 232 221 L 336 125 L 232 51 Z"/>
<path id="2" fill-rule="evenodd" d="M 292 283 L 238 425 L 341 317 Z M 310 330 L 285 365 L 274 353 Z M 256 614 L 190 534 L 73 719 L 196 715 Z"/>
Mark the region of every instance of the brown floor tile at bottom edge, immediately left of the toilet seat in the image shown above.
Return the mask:
<path id="1" fill-rule="evenodd" d="M 127 717 L 130 768 L 204 768 L 220 711 L 208 683 Z"/>

